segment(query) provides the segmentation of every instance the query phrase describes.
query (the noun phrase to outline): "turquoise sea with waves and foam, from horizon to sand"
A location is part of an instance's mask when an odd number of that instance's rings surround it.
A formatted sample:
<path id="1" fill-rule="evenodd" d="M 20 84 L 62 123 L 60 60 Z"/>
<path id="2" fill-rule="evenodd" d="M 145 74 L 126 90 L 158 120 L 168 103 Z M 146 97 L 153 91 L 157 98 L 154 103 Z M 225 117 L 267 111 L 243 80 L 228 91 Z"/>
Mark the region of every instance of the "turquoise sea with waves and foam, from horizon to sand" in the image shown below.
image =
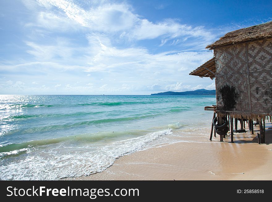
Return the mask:
<path id="1" fill-rule="evenodd" d="M 209 128 L 213 114 L 204 106 L 215 103 L 215 96 L 0 95 L 0 179 L 101 172 L 120 156 Z"/>

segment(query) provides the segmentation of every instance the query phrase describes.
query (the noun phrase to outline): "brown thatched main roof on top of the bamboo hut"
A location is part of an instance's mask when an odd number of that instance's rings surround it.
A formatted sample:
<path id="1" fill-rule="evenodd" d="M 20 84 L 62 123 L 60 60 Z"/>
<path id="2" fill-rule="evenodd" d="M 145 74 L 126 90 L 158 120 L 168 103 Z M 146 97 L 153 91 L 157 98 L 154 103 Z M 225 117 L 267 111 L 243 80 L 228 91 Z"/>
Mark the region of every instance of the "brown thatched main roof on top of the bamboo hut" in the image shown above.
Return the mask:
<path id="1" fill-rule="evenodd" d="M 243 28 L 225 34 L 215 43 L 208 45 L 206 48 L 214 49 L 232 43 L 240 43 L 249 40 L 272 38 L 272 21 L 252 27 Z"/>

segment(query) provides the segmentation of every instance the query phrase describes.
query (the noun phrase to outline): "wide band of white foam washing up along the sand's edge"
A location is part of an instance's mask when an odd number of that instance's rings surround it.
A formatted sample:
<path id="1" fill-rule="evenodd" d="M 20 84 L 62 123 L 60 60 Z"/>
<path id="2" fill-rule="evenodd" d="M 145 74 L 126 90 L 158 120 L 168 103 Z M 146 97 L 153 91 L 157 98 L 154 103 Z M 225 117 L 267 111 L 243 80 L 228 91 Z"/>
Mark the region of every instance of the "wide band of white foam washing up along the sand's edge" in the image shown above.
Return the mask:
<path id="1" fill-rule="evenodd" d="M 90 150 L 90 147 L 70 151 L 63 143 L 54 148 L 36 148 L 27 158 L 2 165 L 1 180 L 55 180 L 87 176 L 102 172 L 127 154 L 145 149 L 147 143 L 172 134 L 172 129 L 149 133 L 137 138 L 113 142 Z"/>

